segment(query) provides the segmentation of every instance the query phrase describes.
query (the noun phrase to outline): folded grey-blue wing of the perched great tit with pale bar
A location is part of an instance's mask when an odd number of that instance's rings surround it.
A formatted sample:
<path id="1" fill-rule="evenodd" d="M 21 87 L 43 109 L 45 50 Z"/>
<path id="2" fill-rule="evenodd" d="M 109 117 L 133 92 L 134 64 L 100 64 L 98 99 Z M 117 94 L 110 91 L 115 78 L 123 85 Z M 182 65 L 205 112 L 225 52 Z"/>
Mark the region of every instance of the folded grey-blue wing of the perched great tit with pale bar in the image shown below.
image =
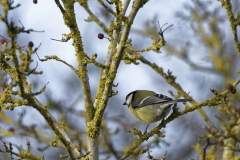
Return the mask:
<path id="1" fill-rule="evenodd" d="M 140 108 L 146 105 L 166 103 L 172 101 L 172 98 L 164 96 L 162 94 L 156 94 L 154 96 L 148 96 L 146 98 L 137 99 L 132 102 L 133 108 Z"/>

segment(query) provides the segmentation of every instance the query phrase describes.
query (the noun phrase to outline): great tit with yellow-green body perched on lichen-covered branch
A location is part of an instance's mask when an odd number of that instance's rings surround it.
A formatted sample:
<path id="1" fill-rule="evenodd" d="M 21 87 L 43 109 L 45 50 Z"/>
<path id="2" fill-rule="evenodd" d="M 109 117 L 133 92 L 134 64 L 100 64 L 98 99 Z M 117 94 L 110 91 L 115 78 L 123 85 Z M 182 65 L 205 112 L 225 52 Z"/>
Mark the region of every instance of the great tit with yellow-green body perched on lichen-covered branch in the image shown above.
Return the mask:
<path id="1" fill-rule="evenodd" d="M 173 104 L 188 102 L 189 99 L 172 99 L 162 94 L 156 94 L 148 90 L 136 90 L 126 96 L 123 105 L 128 108 L 133 116 L 146 122 L 147 128 L 150 123 L 160 121 L 168 115 Z M 145 132 L 147 131 L 145 129 Z"/>

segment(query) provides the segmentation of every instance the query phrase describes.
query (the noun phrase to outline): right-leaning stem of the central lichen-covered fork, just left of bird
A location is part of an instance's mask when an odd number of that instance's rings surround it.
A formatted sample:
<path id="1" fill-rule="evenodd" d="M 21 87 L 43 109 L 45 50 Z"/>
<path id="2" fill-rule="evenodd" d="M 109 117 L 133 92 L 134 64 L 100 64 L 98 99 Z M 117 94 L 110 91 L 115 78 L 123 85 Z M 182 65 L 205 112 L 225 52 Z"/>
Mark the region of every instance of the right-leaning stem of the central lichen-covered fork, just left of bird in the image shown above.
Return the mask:
<path id="1" fill-rule="evenodd" d="M 120 43 L 118 45 L 118 48 L 116 51 L 109 50 L 108 56 L 106 58 L 105 63 L 110 63 L 110 62 L 111 63 L 109 64 L 109 68 L 106 68 L 105 70 L 102 71 L 102 77 L 101 77 L 100 86 L 99 86 L 100 89 L 98 90 L 97 97 L 96 97 L 96 99 L 99 101 L 99 104 L 97 105 L 97 108 L 96 108 L 94 120 L 91 122 L 91 124 L 89 124 L 89 127 L 91 125 L 91 130 L 93 131 L 91 134 L 93 137 L 98 137 L 98 135 L 99 135 L 99 129 L 96 130 L 95 128 L 96 128 L 96 126 L 100 126 L 100 124 L 101 124 L 102 116 L 104 114 L 104 111 L 105 111 L 105 108 L 106 108 L 106 105 L 107 105 L 107 102 L 109 99 L 109 95 L 112 91 L 113 81 L 116 78 L 117 69 L 120 64 L 122 55 L 124 53 L 126 40 L 128 38 L 129 31 L 131 29 L 133 20 L 136 16 L 138 10 L 140 9 L 141 4 L 142 4 L 141 0 L 134 1 L 132 10 L 130 11 L 130 14 L 129 14 L 127 20 L 124 22 L 123 32 L 121 34 Z M 112 45 L 112 44 L 110 44 L 110 45 Z M 112 46 L 110 46 L 109 48 L 113 49 Z M 102 84 L 101 82 L 104 82 L 104 84 Z M 101 95 L 101 96 L 99 96 L 99 95 Z"/>

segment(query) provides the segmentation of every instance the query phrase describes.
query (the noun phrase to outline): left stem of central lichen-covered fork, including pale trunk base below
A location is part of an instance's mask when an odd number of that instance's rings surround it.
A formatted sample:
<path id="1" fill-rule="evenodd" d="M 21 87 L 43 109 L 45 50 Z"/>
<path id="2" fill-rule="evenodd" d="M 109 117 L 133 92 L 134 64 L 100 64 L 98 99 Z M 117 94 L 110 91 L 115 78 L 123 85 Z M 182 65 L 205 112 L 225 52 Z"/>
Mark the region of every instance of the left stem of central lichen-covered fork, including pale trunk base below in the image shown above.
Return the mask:
<path id="1" fill-rule="evenodd" d="M 92 96 L 88 78 L 87 64 L 85 63 L 86 54 L 84 53 L 81 34 L 77 26 L 76 16 L 74 12 L 74 0 L 62 1 L 64 4 L 65 12 L 62 12 L 65 24 L 69 27 L 71 38 L 73 39 L 73 46 L 75 48 L 77 62 L 78 62 L 78 77 L 82 82 L 83 95 L 84 95 L 84 106 L 85 106 L 85 117 L 86 122 L 92 121 L 94 116 L 94 108 L 92 103 Z M 59 2 L 56 0 L 56 3 Z M 58 5 L 59 6 L 59 5 Z M 61 10 L 61 8 L 60 8 Z M 97 137 L 88 136 L 88 149 L 90 152 L 89 159 L 98 159 L 98 142 Z"/>

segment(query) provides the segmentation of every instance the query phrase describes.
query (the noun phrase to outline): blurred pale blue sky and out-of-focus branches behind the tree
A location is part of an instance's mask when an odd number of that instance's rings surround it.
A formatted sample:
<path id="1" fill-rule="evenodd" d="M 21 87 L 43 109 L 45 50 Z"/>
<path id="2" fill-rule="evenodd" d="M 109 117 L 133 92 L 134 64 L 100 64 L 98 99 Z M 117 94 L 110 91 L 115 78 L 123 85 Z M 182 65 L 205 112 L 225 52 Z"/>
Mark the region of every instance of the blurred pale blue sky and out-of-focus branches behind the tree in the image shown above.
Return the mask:
<path id="1" fill-rule="evenodd" d="M 236 15 L 239 12 L 240 2 L 238 0 L 231 2 Z M 15 0 L 14 3 L 21 4 L 19 8 L 9 13 L 9 17 L 16 24 L 21 25 L 19 22 L 21 21 L 26 29 L 44 30 L 41 33 L 20 34 L 17 43 L 23 47 L 27 46 L 29 41 L 32 41 L 35 47 L 41 44 L 37 52 L 40 58 L 44 58 L 46 55 L 57 55 L 77 68 L 72 41 L 64 43 L 51 40 L 51 38 L 61 40 L 62 34 L 69 33 L 55 2 L 38 0 L 34 4 L 31 0 Z M 92 12 L 109 26 L 109 22 L 114 17 L 96 1 L 90 0 L 89 6 Z M 113 8 L 113 6 L 110 7 Z M 85 52 L 89 57 L 97 53 L 97 61 L 103 63 L 109 41 L 107 39 L 100 40 L 97 35 L 103 33 L 107 36 L 107 34 L 97 24 L 85 21 L 88 14 L 77 3 L 75 12 Z M 3 13 L 2 8 L 0 8 L 0 13 Z M 160 54 L 154 52 L 141 54 L 162 67 L 165 72 L 172 71 L 172 74 L 177 77 L 176 82 L 181 84 L 182 88 L 189 92 L 197 102 L 213 97 L 210 89 L 214 88 L 221 92 L 226 89 L 227 84 L 237 79 L 239 58 L 226 11 L 221 8 L 218 1 L 149 1 L 137 14 L 130 32 L 129 38 L 132 39 L 134 48 L 143 49 L 151 45 L 151 37 L 159 38 L 158 21 L 161 26 L 165 23 L 173 24 L 173 27 L 164 32 L 166 46 L 161 49 L 162 53 Z M 7 38 L 6 27 L 2 22 L 0 23 L 0 35 Z M 49 82 L 46 91 L 37 98 L 42 104 L 48 104 L 51 114 L 57 120 L 67 124 L 69 136 L 84 150 L 86 148 L 84 143 L 86 128 L 80 80 L 70 68 L 60 62 L 40 62 L 36 55 L 34 55 L 34 60 L 32 68 L 38 64 L 37 71 L 43 71 L 42 75 L 30 76 L 28 79 L 34 84 L 35 91 L 40 90 Z M 94 98 L 100 69 L 90 64 L 88 71 Z M 0 83 L 3 84 L 6 78 L 4 78 L 4 72 L 0 71 L 0 74 L 2 75 Z M 167 84 L 160 75 L 141 63 L 126 65 L 122 61 L 114 83 L 118 84 L 115 88 L 118 94 L 109 100 L 105 112 L 101 141 L 99 142 L 101 145 L 100 159 L 118 159 L 122 155 L 123 149 L 130 146 L 137 138 L 128 131 L 133 127 L 143 131 L 146 127 L 144 122 L 134 118 L 128 108 L 122 105 L 129 92 L 146 89 L 167 96 L 171 96 L 169 91 L 177 94 L 176 90 Z M 1 89 L 0 92 L 2 92 Z M 235 104 L 239 103 L 238 97 L 238 93 L 232 96 Z M 184 106 L 181 104 L 178 107 L 180 110 L 184 110 Z M 214 124 L 219 126 L 214 117 L 219 115 L 217 107 L 203 109 Z M 57 152 L 66 154 L 61 147 L 49 146 L 49 142 L 53 139 L 53 133 L 35 109 L 19 107 L 14 111 L 1 112 L 1 137 L 5 142 L 11 141 L 16 150 L 26 149 L 26 142 L 30 141 L 31 151 L 36 155 L 44 156 L 46 160 L 60 159 Z M 149 130 L 156 125 L 158 122 L 151 124 Z M 191 146 L 196 144 L 199 135 L 206 132 L 202 128 L 205 125 L 207 124 L 198 111 L 191 112 L 167 124 L 167 127 L 161 130 L 165 134 L 165 138 L 160 139 L 154 136 L 148 142 L 144 142 L 142 147 L 149 146 L 154 158 L 163 157 L 167 151 L 169 160 L 197 159 L 197 153 Z M 12 132 L 12 134 L 8 132 Z M 0 144 L 0 149 L 3 149 L 2 143 Z M 146 156 L 147 154 L 132 156 L 129 159 L 146 159 Z M 221 148 L 219 148 L 219 158 L 221 158 Z M 0 153 L 0 159 L 7 160 L 9 155 Z"/>

